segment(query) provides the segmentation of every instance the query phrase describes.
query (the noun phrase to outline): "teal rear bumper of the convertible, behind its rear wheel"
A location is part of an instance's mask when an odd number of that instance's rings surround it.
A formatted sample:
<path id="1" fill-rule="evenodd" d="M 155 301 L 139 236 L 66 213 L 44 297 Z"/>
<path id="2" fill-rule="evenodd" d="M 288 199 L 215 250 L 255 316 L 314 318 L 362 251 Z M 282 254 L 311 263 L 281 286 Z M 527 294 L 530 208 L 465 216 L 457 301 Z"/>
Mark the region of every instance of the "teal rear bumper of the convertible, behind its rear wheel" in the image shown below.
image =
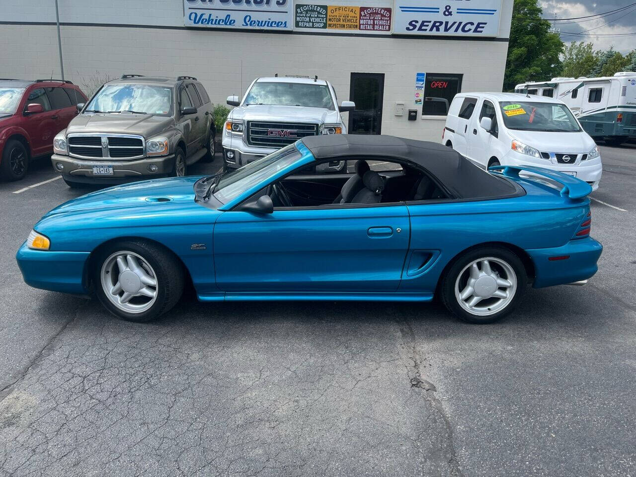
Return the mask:
<path id="1" fill-rule="evenodd" d="M 603 245 L 591 237 L 574 239 L 562 247 L 527 250 L 534 263 L 534 288 L 565 285 L 587 280 L 597 270 Z M 550 260 L 550 257 L 567 259 Z"/>

